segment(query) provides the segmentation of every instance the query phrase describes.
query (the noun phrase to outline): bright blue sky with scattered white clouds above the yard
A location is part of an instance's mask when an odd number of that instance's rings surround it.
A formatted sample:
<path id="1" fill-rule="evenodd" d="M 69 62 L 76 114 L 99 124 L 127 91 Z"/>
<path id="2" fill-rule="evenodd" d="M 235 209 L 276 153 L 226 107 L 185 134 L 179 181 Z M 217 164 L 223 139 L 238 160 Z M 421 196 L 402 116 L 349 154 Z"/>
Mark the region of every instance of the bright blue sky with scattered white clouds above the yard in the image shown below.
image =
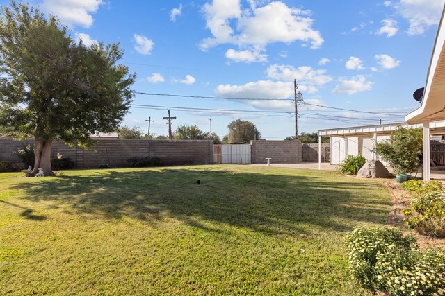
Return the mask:
<path id="1" fill-rule="evenodd" d="M 4 1 L 2 1 L 4 2 Z M 120 42 L 133 89 L 155 94 L 279 98 L 276 101 L 146 96 L 133 104 L 169 106 L 173 130 L 197 125 L 220 137 L 234 119 L 265 139 L 294 134 L 293 79 L 305 103 L 299 132 L 403 121 L 418 103 L 444 0 L 392 1 L 30 1 L 90 44 Z M 287 100 L 286 100 L 287 99 Z M 306 105 L 305 105 L 306 104 Z M 313 104 L 313 105 L 308 105 Z M 388 113 L 366 114 L 333 110 Z M 209 110 L 179 111 L 177 107 Z M 123 125 L 167 134 L 166 107 L 131 108 Z M 213 110 L 213 111 L 212 111 Z M 236 112 L 215 110 L 241 110 Z M 246 112 L 250 111 L 250 112 Z M 272 113 L 284 112 L 284 113 Z M 285 113 L 288 112 L 288 113 Z"/>

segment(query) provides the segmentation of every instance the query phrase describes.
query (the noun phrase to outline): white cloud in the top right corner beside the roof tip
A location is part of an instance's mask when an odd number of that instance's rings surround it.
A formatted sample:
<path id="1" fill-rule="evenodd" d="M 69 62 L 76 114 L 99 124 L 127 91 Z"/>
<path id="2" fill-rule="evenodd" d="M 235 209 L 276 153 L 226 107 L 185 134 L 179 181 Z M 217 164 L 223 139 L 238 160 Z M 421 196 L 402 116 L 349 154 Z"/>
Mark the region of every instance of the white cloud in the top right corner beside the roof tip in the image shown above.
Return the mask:
<path id="1" fill-rule="evenodd" d="M 410 22 L 409 35 L 421 35 L 439 24 L 444 0 L 401 0 L 394 4 L 397 12 Z"/>

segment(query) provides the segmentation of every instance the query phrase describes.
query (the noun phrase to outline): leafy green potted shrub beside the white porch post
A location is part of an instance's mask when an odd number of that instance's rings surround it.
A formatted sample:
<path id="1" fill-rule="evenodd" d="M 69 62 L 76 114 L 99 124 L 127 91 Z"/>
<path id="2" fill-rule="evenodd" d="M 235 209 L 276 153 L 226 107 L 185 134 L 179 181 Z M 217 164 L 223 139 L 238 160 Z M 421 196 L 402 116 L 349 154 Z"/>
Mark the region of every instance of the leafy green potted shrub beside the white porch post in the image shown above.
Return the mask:
<path id="1" fill-rule="evenodd" d="M 422 146 L 421 128 L 399 126 L 390 140 L 375 143 L 375 152 L 399 175 L 417 170 L 419 162 L 416 157 Z"/>

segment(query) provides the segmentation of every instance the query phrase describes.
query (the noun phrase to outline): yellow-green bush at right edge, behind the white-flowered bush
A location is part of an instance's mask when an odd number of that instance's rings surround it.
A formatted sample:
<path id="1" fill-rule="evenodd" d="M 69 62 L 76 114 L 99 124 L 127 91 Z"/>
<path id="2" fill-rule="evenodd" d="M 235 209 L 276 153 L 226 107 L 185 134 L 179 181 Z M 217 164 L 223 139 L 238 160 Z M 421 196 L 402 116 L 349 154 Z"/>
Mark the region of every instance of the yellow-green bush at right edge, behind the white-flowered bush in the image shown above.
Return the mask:
<path id="1" fill-rule="evenodd" d="M 410 200 L 403 209 L 405 223 L 426 236 L 445 238 L 445 192 L 435 191 Z"/>

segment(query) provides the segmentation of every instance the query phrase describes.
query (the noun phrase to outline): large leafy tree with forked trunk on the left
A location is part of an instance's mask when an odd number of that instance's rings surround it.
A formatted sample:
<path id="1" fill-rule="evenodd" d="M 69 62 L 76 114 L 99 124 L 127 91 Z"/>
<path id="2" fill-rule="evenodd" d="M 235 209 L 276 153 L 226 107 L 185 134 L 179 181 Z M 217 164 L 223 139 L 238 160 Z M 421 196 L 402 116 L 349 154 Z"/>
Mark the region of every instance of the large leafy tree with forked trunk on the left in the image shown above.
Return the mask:
<path id="1" fill-rule="evenodd" d="M 74 42 L 55 17 L 15 2 L 1 8 L 0 44 L 0 125 L 33 135 L 34 173 L 51 175 L 55 139 L 88 146 L 127 114 L 135 76 L 117 64 L 118 44 Z"/>

